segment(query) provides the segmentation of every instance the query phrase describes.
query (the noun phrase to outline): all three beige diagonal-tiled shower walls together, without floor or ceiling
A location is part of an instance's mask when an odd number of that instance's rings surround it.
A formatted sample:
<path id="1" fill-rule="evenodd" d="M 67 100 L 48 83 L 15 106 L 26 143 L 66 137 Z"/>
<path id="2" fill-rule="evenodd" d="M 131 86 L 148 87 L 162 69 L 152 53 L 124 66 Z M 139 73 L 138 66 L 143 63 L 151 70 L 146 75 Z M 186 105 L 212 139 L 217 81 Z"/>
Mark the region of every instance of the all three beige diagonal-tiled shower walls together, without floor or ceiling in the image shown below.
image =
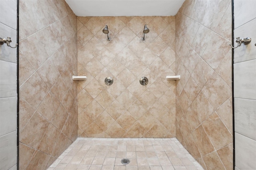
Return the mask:
<path id="1" fill-rule="evenodd" d="M 232 168 L 230 5 L 187 0 L 175 17 L 76 17 L 64 0 L 20 0 L 20 169 L 49 167 L 78 136 L 177 137 L 205 169 Z"/>

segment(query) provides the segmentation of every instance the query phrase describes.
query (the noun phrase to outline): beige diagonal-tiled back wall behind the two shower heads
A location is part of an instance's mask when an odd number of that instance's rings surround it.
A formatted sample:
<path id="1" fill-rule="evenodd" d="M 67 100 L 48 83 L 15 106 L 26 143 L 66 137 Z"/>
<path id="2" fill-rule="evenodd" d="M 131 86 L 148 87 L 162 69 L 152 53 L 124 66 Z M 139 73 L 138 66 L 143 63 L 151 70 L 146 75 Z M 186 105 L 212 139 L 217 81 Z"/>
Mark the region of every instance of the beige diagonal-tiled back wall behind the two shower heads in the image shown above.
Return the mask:
<path id="1" fill-rule="evenodd" d="M 176 136 L 176 85 L 165 79 L 175 75 L 175 17 L 78 17 L 77 28 L 78 75 L 87 76 L 78 82 L 78 135 Z M 140 85 L 142 76 L 148 85 Z"/>

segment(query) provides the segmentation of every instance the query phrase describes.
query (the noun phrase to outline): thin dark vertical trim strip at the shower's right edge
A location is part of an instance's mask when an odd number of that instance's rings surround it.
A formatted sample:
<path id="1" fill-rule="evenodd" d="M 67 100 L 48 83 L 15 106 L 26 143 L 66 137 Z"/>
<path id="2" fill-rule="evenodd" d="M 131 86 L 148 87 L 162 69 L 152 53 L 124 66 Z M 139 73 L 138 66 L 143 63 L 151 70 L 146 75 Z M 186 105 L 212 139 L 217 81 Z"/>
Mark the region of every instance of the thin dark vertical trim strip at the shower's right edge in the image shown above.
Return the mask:
<path id="1" fill-rule="evenodd" d="M 234 47 L 234 0 L 232 5 L 232 46 Z M 234 117 L 234 49 L 232 49 L 232 117 L 233 117 L 233 169 L 235 169 L 235 117 Z"/>

